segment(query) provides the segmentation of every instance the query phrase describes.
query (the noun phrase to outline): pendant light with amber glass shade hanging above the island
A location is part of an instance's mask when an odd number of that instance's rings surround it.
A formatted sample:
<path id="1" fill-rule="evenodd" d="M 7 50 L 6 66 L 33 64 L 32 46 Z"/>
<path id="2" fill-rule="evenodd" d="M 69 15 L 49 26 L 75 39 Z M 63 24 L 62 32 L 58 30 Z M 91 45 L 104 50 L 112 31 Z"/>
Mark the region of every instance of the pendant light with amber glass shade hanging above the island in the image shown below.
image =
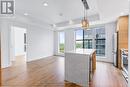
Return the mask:
<path id="1" fill-rule="evenodd" d="M 82 25 L 82 28 L 85 29 L 85 30 L 89 28 L 89 21 L 87 19 L 87 14 L 86 14 L 85 7 L 84 7 L 84 17 L 83 17 L 83 19 L 81 21 L 81 25 Z"/>

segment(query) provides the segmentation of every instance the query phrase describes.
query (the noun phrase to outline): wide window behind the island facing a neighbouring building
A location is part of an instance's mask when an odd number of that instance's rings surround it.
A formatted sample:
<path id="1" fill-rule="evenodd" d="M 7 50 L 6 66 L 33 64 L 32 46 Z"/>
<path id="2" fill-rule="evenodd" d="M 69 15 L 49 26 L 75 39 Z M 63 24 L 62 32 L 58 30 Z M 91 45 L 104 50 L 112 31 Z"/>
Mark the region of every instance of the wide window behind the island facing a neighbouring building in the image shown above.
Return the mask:
<path id="1" fill-rule="evenodd" d="M 105 28 L 97 27 L 89 30 L 78 29 L 76 32 L 76 49 L 96 49 L 97 56 L 105 56 Z"/>

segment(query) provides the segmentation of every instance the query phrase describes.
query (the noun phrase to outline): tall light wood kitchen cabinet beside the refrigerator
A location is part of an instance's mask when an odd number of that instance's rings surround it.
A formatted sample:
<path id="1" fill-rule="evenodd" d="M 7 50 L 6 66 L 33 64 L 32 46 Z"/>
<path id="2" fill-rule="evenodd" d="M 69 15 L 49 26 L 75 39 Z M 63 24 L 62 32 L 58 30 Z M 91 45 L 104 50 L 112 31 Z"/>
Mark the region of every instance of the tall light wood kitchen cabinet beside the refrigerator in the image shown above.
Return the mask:
<path id="1" fill-rule="evenodd" d="M 120 69 L 121 49 L 128 49 L 128 16 L 121 16 L 117 21 L 117 61 Z"/>

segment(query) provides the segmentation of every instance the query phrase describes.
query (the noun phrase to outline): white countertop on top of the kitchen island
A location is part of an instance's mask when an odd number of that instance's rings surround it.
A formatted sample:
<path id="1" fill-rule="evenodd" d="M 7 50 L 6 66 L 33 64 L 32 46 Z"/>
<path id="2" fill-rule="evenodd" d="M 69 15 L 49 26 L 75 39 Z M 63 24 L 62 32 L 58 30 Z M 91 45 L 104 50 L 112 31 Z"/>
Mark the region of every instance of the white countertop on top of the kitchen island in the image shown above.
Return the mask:
<path id="1" fill-rule="evenodd" d="M 84 55 L 91 55 L 95 52 L 95 49 L 77 49 L 73 51 L 68 51 L 66 53 L 74 53 L 74 54 L 84 54 Z"/>

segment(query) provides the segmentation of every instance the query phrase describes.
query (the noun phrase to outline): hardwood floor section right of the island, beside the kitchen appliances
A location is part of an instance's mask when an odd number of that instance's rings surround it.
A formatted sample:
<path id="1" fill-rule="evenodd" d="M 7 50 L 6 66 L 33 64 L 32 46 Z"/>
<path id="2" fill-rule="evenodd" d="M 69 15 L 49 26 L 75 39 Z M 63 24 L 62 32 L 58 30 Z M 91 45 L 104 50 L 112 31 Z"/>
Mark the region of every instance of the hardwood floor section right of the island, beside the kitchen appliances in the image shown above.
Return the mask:
<path id="1" fill-rule="evenodd" d="M 90 87 L 127 87 L 127 82 L 122 73 L 112 64 L 97 62 L 97 69 Z"/>

